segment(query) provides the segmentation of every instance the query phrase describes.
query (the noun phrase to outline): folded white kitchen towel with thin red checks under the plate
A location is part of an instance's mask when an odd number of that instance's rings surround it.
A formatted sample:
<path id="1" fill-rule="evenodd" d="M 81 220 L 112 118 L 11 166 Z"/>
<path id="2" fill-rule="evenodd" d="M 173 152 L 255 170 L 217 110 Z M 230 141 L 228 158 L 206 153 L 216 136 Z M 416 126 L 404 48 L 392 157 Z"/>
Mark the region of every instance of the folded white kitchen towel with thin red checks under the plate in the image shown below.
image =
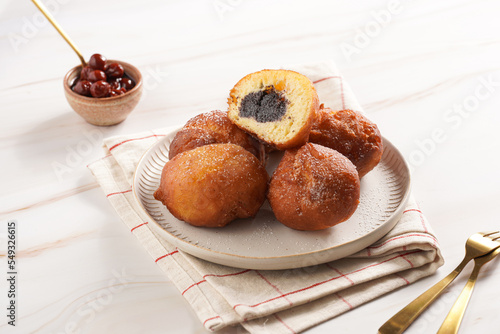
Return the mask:
<path id="1" fill-rule="evenodd" d="M 326 107 L 362 111 L 333 63 L 291 69 L 313 81 Z M 178 250 L 155 234 L 131 188 L 143 153 L 174 129 L 105 139 L 106 155 L 88 167 L 125 226 L 208 330 L 240 324 L 250 333 L 299 333 L 431 275 L 443 264 L 438 242 L 413 198 L 400 221 L 381 240 L 326 264 L 279 271 L 239 269 Z"/>

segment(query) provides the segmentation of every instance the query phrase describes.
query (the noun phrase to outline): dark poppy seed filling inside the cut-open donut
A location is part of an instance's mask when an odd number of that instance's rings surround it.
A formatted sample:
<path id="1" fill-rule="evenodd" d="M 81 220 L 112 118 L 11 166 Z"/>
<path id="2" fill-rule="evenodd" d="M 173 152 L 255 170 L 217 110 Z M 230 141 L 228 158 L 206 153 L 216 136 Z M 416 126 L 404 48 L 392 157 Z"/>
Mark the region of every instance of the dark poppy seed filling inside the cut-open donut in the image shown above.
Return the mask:
<path id="1" fill-rule="evenodd" d="M 288 100 L 274 86 L 247 94 L 241 101 L 240 117 L 254 118 L 259 123 L 275 122 L 286 113 Z"/>

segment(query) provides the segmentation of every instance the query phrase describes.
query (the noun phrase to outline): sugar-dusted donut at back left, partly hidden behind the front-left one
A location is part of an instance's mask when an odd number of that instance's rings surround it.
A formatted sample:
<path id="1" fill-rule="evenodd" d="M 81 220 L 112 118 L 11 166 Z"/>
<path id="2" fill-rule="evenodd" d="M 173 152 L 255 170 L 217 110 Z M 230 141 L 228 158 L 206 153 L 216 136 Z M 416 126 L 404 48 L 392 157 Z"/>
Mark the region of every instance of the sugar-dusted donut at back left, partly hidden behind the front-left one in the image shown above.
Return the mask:
<path id="1" fill-rule="evenodd" d="M 258 143 L 234 125 L 227 118 L 227 112 L 219 110 L 197 115 L 187 121 L 170 143 L 168 157 L 172 159 L 184 151 L 215 143 L 240 145 L 259 159 L 263 157 Z"/>

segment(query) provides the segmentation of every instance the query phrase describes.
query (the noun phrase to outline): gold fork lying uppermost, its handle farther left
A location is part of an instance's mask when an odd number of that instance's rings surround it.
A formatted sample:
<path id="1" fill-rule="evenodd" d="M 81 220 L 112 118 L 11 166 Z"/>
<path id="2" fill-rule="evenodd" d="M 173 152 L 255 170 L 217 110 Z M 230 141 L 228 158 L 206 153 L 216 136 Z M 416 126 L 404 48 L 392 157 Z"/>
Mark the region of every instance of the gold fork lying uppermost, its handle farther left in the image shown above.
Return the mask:
<path id="1" fill-rule="evenodd" d="M 417 317 L 441 295 L 444 289 L 460 274 L 465 265 L 472 259 L 488 254 L 500 247 L 500 242 L 496 241 L 500 231 L 475 233 L 467 239 L 465 243 L 465 257 L 460 264 L 445 278 L 437 282 L 429 290 L 418 296 L 414 301 L 404 307 L 401 311 L 390 318 L 382 327 L 379 334 L 400 334 Z M 495 240 L 493 240 L 495 239 Z"/>

